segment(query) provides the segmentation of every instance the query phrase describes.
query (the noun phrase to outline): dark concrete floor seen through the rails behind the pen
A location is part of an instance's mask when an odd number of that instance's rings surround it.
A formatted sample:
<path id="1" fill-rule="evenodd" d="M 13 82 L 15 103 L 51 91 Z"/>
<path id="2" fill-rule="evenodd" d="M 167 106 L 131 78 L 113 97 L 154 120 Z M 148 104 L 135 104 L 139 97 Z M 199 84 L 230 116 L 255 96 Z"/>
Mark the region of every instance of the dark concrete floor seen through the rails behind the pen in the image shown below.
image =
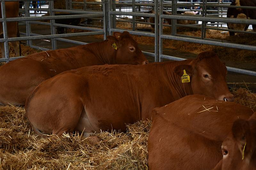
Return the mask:
<path id="1" fill-rule="evenodd" d="M 47 35 L 47 34 L 51 33 L 49 26 L 32 25 L 31 28 L 32 28 L 33 33 L 38 33 L 38 34 L 43 34 L 43 35 Z M 25 32 L 25 26 L 20 26 L 20 31 Z M 97 41 L 103 40 L 103 39 L 97 39 L 94 36 L 69 37 L 68 39 L 73 39 L 76 41 L 82 41 L 82 42 L 87 42 L 87 43 L 92 43 L 92 42 L 97 42 Z M 51 39 L 33 40 L 33 45 L 51 49 Z M 72 44 L 72 43 L 63 42 L 63 41 L 57 41 L 58 49 L 68 48 L 71 46 L 77 46 L 77 45 Z M 154 53 L 154 46 L 150 46 L 150 45 L 139 45 L 139 46 L 140 46 L 141 50 L 143 50 L 143 51 Z M 197 56 L 194 53 L 178 51 L 178 50 L 174 50 L 171 48 L 164 48 L 163 53 L 165 55 L 181 57 L 181 58 L 186 58 L 186 59 L 192 59 Z M 219 55 L 221 55 L 221 54 L 219 54 Z M 154 62 L 153 57 L 147 56 L 147 58 L 148 58 L 149 62 Z M 164 61 L 166 61 L 166 60 L 164 60 Z M 236 67 L 236 68 L 256 71 L 256 64 L 252 64 L 252 63 L 248 63 L 248 62 L 240 62 L 240 61 L 239 62 L 238 61 L 228 61 L 228 60 L 222 60 L 222 61 L 225 62 L 226 66 L 229 66 L 229 67 Z M 244 82 L 246 82 L 246 83 L 248 83 L 247 86 L 249 87 L 249 89 L 252 89 L 252 91 L 256 92 L 256 77 L 254 77 L 254 76 L 228 72 L 227 82 L 228 82 L 228 86 L 230 86 L 230 87 L 234 86 L 232 84 L 233 82 L 239 83 L 239 84 L 236 84 L 236 87 L 239 87 L 239 86 L 245 87 Z"/>

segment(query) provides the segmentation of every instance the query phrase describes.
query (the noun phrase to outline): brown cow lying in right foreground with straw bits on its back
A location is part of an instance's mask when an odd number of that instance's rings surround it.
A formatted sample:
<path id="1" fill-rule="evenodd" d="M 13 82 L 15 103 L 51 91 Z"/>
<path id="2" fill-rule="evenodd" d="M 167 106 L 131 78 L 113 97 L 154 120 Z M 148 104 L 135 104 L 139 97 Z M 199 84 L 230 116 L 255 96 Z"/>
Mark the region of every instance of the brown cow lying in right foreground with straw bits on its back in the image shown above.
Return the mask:
<path id="1" fill-rule="evenodd" d="M 148 138 L 149 168 L 212 169 L 223 157 L 216 169 L 221 169 L 221 166 L 223 170 L 255 169 L 256 117 L 251 131 L 249 127 L 244 130 L 234 128 L 241 123 L 237 120 L 247 120 L 252 114 L 251 108 L 202 95 L 186 96 L 164 107 L 155 108 Z M 249 120 L 247 123 L 253 122 Z M 231 131 L 233 137 L 228 136 Z M 245 136 L 240 140 L 242 132 L 245 132 Z M 245 160 L 242 160 L 240 151 L 245 141 Z M 224 156 L 221 152 L 222 142 Z M 242 168 L 247 163 L 250 168 Z"/>

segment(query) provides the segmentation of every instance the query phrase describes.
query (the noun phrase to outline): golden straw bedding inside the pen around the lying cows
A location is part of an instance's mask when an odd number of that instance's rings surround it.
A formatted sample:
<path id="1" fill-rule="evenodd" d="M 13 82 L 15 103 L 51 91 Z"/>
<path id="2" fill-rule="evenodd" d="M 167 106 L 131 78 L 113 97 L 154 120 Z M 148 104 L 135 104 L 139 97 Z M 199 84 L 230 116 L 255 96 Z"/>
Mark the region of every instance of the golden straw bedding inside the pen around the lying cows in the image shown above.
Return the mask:
<path id="1" fill-rule="evenodd" d="M 233 91 L 235 101 L 256 110 L 256 94 Z M 150 121 L 127 126 L 127 132 L 96 134 L 91 144 L 78 134 L 40 138 L 31 129 L 22 107 L 0 106 L 1 169 L 148 169 Z"/>

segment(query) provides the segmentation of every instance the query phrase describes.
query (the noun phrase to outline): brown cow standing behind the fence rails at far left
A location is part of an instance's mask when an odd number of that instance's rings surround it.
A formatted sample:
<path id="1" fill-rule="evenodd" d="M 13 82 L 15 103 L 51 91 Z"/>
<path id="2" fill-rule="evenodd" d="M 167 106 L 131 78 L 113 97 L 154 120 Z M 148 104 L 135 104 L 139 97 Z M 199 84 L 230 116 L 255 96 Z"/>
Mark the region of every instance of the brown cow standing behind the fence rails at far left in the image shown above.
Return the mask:
<path id="1" fill-rule="evenodd" d="M 0 9 L 1 9 L 1 4 L 0 4 Z M 18 1 L 5 2 L 5 11 L 6 11 L 6 18 L 19 17 L 19 2 Z M 2 18 L 2 11 L 0 12 L 0 17 Z M 18 22 L 7 22 L 7 33 L 8 33 L 8 38 L 19 37 Z M 0 23 L 0 38 L 4 38 L 2 22 Z M 20 56 L 21 55 L 20 41 L 12 41 L 11 43 L 14 47 L 16 56 Z M 2 57 L 5 58 L 4 43 L 0 43 L 0 48 L 2 51 Z"/>

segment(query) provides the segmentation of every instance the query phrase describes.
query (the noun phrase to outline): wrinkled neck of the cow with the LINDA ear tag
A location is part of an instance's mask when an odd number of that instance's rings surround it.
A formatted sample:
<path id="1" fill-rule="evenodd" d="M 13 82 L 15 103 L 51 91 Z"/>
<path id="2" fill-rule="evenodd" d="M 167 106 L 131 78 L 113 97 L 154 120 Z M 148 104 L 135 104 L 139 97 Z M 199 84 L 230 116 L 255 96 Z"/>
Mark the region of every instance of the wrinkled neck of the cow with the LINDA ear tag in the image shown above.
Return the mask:
<path id="1" fill-rule="evenodd" d="M 164 72 L 164 79 L 166 81 L 166 86 L 170 90 L 172 97 L 175 100 L 178 100 L 184 96 L 192 95 L 191 82 L 182 83 L 181 77 L 174 73 L 173 69 L 179 65 L 192 65 L 194 60 L 183 60 L 183 61 L 173 61 L 164 63 L 162 67 L 162 72 Z M 160 68 L 161 69 L 161 68 Z M 191 77 L 192 79 L 192 77 Z M 190 80 L 191 81 L 191 80 Z"/>

